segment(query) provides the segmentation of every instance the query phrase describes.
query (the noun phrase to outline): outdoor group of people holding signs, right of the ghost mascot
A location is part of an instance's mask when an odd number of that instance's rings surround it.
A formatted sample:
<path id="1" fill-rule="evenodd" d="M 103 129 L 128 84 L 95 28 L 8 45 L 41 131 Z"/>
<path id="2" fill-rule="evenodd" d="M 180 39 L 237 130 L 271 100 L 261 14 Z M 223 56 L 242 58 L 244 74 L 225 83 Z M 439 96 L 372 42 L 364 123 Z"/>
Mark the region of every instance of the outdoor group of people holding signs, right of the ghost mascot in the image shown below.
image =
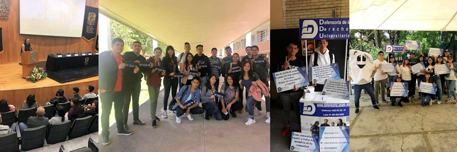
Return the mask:
<path id="1" fill-rule="evenodd" d="M 379 105 L 378 97 L 381 92 L 381 99 L 383 102 L 385 100 L 384 94 L 387 90 L 387 97 L 390 97 L 390 104 L 395 106 L 396 99 L 401 98 L 397 103 L 398 106 L 402 107 L 402 102 L 409 103 L 409 100 L 415 98 L 416 91 L 416 81 L 417 87 L 420 89 L 421 83 L 432 83 L 436 84 L 437 89 L 435 89 L 436 94 L 423 93 L 419 92 L 417 99 L 421 100 L 422 106 L 432 105 L 433 100 L 437 104 L 441 104 L 443 97 L 443 92 L 447 94 L 445 102 L 452 101 L 453 104 L 457 104 L 456 95 L 455 95 L 455 81 L 457 75 L 457 67 L 454 65 L 457 64 L 453 60 L 453 56 L 448 50 L 444 51 L 443 55 L 438 56 L 424 56 L 422 54 L 421 46 L 419 46 L 420 56 L 416 57 L 414 52 L 409 53 L 409 58 L 405 54 L 405 49 L 403 49 L 401 56 L 403 61 L 396 64 L 395 71 L 393 72 L 382 72 L 381 64 L 382 63 L 397 63 L 394 55 L 389 55 L 388 61 L 384 60 L 384 52 L 380 51 L 378 53 L 378 59 L 373 61 L 374 71 L 372 73 L 373 83 L 374 83 L 374 94 L 371 91 L 368 91 L 369 95 L 372 97 L 372 102 Z M 412 66 L 418 63 L 423 63 L 425 69 L 420 70 L 417 73 L 413 73 Z M 445 64 L 449 68 L 450 72 L 447 74 L 435 74 L 435 66 Z M 402 82 L 408 84 L 407 97 L 397 97 L 391 96 L 390 82 Z M 451 97 L 454 97 L 451 100 Z M 379 107 L 378 107 L 379 109 Z M 355 110 L 355 113 L 358 113 L 358 108 Z"/>

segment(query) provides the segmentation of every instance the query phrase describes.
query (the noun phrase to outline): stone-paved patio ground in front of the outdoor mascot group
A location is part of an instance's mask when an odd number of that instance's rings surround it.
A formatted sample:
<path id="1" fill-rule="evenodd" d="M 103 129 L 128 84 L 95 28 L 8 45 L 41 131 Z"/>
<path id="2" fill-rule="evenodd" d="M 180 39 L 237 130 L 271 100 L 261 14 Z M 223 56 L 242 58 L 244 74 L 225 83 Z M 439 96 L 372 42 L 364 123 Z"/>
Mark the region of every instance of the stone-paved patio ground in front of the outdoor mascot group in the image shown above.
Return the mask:
<path id="1" fill-rule="evenodd" d="M 377 111 L 362 92 L 356 115 L 351 95 L 350 151 L 457 151 L 457 105 L 444 102 L 446 98 L 426 107 L 417 98 L 403 107 L 380 101 Z"/>

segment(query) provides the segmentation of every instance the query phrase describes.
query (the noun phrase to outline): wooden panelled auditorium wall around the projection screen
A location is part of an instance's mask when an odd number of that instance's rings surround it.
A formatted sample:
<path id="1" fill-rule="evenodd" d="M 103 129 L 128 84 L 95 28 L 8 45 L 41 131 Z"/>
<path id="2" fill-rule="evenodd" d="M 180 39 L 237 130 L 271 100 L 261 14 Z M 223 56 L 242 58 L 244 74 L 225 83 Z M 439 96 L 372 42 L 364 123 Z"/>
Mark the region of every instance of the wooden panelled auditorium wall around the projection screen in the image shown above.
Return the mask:
<path id="1" fill-rule="evenodd" d="M 98 8 L 98 0 L 86 0 L 86 6 Z M 95 39 L 86 41 L 78 37 L 57 37 L 43 35 L 19 34 L 19 0 L 10 0 L 10 14 L 8 19 L 0 19 L 3 28 L 3 53 L 0 54 L 0 63 L 20 62 L 21 45 L 24 39 L 30 39 L 32 48 L 39 51 L 40 60 L 46 60 L 48 53 L 57 52 L 95 52 Z M 98 33 L 98 27 L 97 27 Z"/>

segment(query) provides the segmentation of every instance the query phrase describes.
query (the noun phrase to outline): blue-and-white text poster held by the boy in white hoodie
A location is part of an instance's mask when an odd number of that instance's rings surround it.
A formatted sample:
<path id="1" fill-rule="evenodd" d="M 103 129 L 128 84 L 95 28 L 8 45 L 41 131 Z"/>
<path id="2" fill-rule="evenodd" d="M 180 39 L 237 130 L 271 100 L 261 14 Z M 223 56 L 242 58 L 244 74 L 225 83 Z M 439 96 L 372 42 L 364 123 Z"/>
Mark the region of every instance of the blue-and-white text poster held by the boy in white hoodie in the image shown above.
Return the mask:
<path id="1" fill-rule="evenodd" d="M 313 83 L 318 80 L 340 80 L 340 70 L 338 63 L 332 63 L 329 65 L 313 66 L 310 67 L 311 79 Z"/>

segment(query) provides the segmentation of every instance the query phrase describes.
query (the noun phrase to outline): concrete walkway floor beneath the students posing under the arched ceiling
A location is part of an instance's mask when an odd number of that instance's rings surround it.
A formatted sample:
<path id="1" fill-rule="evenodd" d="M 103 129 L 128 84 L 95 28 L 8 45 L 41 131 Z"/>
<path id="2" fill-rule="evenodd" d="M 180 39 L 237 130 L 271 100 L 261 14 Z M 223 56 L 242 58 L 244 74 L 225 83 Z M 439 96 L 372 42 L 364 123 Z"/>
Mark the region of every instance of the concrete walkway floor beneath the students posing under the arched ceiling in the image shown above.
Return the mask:
<path id="1" fill-rule="evenodd" d="M 111 143 L 100 144 L 101 151 L 270 151 L 270 124 L 264 122 L 265 102 L 262 102 L 262 114 L 254 116 L 256 123 L 251 126 L 244 125 L 248 118 L 246 111 L 237 113 L 237 118 L 231 117 L 228 121 L 217 121 L 214 117 L 206 121 L 203 114 L 192 115 L 193 121 L 181 116 L 182 123 L 176 124 L 171 111 L 168 118 L 162 118 L 163 98 L 164 91 L 161 90 L 156 112 L 160 118 L 157 128 L 151 128 L 148 100 L 140 105 L 139 111 L 139 118 L 146 125 L 133 125 L 130 112 L 127 124 L 133 134 L 116 135 L 116 125 L 112 125 Z"/>

